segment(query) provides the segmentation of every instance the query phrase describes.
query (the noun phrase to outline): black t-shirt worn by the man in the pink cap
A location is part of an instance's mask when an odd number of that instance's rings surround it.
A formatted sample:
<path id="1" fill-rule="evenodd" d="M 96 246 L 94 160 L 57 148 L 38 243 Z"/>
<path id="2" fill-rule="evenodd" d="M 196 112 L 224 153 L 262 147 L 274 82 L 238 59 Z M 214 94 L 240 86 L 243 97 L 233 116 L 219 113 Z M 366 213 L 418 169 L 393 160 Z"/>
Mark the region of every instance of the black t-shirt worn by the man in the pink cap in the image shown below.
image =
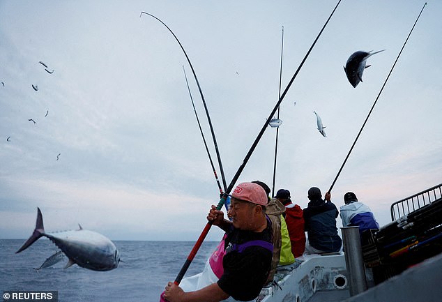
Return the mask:
<path id="1" fill-rule="evenodd" d="M 227 233 L 224 244 L 227 252 L 222 261 L 224 273 L 218 280 L 218 285 L 224 292 L 239 301 L 250 301 L 259 295 L 272 263 L 273 250 L 263 245 L 257 246 L 252 243 L 252 246 L 244 248 L 241 252 L 232 248 L 232 245 L 242 245 L 249 241 L 265 241 L 272 246 L 270 223 L 267 222 L 267 228 L 260 233 L 242 231 L 233 227 Z"/>

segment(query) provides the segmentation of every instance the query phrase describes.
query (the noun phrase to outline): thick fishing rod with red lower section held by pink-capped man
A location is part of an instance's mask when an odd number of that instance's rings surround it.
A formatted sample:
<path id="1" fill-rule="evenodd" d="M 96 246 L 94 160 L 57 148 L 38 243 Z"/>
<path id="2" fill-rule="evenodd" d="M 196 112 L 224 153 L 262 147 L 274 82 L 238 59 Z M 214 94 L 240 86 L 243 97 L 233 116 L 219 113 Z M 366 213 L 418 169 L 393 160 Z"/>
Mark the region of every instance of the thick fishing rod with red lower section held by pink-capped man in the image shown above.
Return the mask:
<path id="1" fill-rule="evenodd" d="M 318 34 L 317 38 L 314 40 L 312 46 L 310 46 L 310 49 L 307 51 L 307 54 L 305 54 L 303 61 L 301 61 L 300 65 L 299 65 L 298 69 L 296 70 L 296 72 L 294 73 L 293 77 L 291 77 L 291 80 L 290 80 L 289 84 L 287 84 L 287 87 L 286 87 L 286 89 L 284 89 L 284 92 L 282 93 L 280 99 L 277 101 L 277 103 L 276 103 L 275 107 L 273 108 L 272 112 L 270 112 L 270 114 L 269 114 L 269 116 L 268 116 L 268 118 L 266 120 L 266 123 L 264 123 L 264 126 L 262 126 L 261 131 L 259 131 L 259 134 L 258 134 L 257 138 L 254 140 L 252 146 L 250 147 L 250 150 L 245 155 L 243 163 L 238 168 L 238 171 L 234 175 L 234 177 L 231 180 L 231 182 L 230 182 L 229 186 L 227 187 L 227 189 L 224 191 L 224 194 L 222 195 L 222 197 L 220 199 L 220 202 L 218 202 L 218 205 L 216 206 L 216 209 L 220 210 L 222 208 L 222 205 L 224 204 L 224 202 L 226 201 L 227 197 L 229 196 L 229 193 L 234 188 L 234 185 L 235 185 L 236 181 L 238 181 L 238 178 L 241 175 L 241 172 L 243 172 L 243 169 L 245 168 L 245 165 L 247 164 L 247 161 L 249 160 L 250 156 L 252 156 L 252 153 L 253 153 L 254 149 L 257 147 L 257 144 L 258 144 L 259 140 L 264 135 L 264 132 L 265 132 L 267 126 L 268 126 L 268 123 L 272 119 L 272 117 L 275 114 L 277 108 L 280 107 L 280 104 L 281 104 L 282 100 L 284 100 L 284 97 L 287 94 L 287 91 L 289 91 L 289 88 L 290 88 L 291 84 L 293 84 L 296 76 L 298 75 L 298 73 L 300 71 L 300 68 L 303 67 L 305 61 L 307 60 L 307 57 L 310 55 L 310 52 L 312 52 L 312 49 L 313 49 L 314 45 L 317 43 L 317 40 L 319 40 L 319 37 L 321 36 L 321 33 L 324 31 L 324 29 L 326 29 L 326 26 L 327 26 L 328 22 L 330 21 L 331 17 L 335 13 L 335 10 L 337 9 L 337 6 L 339 6 L 341 1 L 342 0 L 339 0 L 337 2 L 335 8 L 333 9 L 333 12 L 328 17 L 328 19 L 326 21 L 326 24 L 324 24 L 322 29 L 321 29 L 321 31 L 319 31 L 319 34 Z M 197 255 L 197 252 L 198 252 L 199 248 L 201 247 L 201 244 L 203 243 L 204 239 L 206 238 L 206 236 L 208 234 L 208 231 L 211 229 L 211 226 L 212 226 L 212 224 L 211 224 L 210 221 L 206 223 L 206 226 L 204 227 L 203 231 L 199 235 L 198 240 L 195 243 L 195 246 L 192 248 L 188 258 L 185 260 L 185 263 L 183 264 L 183 267 L 181 268 L 181 271 L 176 276 L 176 278 L 174 280 L 174 284 L 179 285 L 179 283 L 183 279 L 185 272 L 188 270 L 190 264 L 192 263 L 192 260 L 195 258 L 195 255 Z"/>

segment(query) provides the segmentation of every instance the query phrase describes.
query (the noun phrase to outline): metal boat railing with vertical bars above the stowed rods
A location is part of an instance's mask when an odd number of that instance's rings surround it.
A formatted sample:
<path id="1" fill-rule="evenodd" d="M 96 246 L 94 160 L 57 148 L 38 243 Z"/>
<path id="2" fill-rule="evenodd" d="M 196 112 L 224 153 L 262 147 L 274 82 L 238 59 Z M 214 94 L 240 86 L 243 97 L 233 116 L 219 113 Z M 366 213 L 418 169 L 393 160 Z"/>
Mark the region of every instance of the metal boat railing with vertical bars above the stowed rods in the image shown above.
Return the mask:
<path id="1" fill-rule="evenodd" d="M 442 183 L 425 191 L 406 197 L 390 206 L 391 221 L 407 215 L 442 197 Z"/>

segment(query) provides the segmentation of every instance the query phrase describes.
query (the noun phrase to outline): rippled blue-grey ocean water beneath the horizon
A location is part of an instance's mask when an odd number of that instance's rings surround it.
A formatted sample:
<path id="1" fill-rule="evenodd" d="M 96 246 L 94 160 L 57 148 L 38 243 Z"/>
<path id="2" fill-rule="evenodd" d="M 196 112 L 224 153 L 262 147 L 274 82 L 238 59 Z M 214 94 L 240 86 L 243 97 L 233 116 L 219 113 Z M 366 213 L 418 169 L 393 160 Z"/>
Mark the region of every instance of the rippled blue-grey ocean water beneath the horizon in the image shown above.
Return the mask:
<path id="1" fill-rule="evenodd" d="M 158 302 L 168 281 L 174 281 L 194 241 L 113 241 L 120 251 L 112 271 L 91 271 L 77 265 L 63 269 L 67 258 L 36 270 L 57 250 L 42 238 L 15 254 L 22 239 L 0 239 L 0 289 L 58 291 L 59 302 Z M 199 273 L 217 241 L 202 244 L 185 276 Z M 3 293 L 2 293 L 3 294 Z"/>

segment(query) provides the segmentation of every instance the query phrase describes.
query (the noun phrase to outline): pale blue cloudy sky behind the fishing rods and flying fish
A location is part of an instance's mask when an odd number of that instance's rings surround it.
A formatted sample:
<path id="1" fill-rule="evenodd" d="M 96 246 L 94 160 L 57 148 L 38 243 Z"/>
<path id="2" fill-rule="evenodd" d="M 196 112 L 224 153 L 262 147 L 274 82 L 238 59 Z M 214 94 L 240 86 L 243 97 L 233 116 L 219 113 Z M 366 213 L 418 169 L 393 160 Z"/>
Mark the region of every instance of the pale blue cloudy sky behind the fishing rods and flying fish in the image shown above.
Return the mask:
<path id="1" fill-rule="evenodd" d="M 0 239 L 30 236 L 39 207 L 47 232 L 196 241 L 219 190 L 183 66 L 220 169 L 181 48 L 140 13 L 188 53 L 230 183 L 277 103 L 282 28 L 284 90 L 336 3 L 0 0 Z M 275 190 L 305 208 L 310 187 L 330 188 L 424 3 L 340 3 L 282 100 Z M 386 225 L 390 204 L 442 182 L 441 15 L 427 1 L 331 191 L 338 208 L 355 192 Z M 385 51 L 353 88 L 343 66 L 358 50 Z M 275 133 L 236 183 L 272 188 Z"/>

